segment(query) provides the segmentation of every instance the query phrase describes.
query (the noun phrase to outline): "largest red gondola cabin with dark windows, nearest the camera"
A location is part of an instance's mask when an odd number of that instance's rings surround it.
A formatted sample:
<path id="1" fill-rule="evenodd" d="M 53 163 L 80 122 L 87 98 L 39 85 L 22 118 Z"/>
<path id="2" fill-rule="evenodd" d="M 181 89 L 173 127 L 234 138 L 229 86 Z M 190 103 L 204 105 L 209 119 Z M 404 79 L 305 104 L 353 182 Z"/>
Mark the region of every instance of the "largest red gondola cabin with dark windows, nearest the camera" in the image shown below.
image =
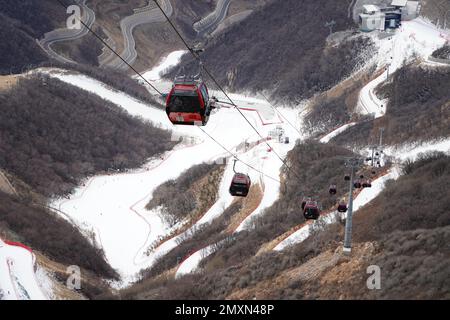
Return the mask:
<path id="1" fill-rule="evenodd" d="M 204 126 L 214 108 L 213 102 L 202 80 L 179 77 L 167 96 L 166 113 L 173 124 Z"/>

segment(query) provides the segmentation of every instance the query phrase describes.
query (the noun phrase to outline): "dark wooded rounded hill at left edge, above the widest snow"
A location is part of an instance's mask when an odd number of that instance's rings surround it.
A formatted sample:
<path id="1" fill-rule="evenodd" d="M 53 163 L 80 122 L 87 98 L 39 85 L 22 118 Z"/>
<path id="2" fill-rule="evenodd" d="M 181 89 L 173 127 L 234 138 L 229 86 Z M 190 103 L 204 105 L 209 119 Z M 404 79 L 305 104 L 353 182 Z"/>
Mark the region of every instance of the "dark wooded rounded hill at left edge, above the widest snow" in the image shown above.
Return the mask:
<path id="1" fill-rule="evenodd" d="M 169 132 L 55 79 L 21 79 L 0 103 L 0 166 L 45 196 L 173 146 Z"/>

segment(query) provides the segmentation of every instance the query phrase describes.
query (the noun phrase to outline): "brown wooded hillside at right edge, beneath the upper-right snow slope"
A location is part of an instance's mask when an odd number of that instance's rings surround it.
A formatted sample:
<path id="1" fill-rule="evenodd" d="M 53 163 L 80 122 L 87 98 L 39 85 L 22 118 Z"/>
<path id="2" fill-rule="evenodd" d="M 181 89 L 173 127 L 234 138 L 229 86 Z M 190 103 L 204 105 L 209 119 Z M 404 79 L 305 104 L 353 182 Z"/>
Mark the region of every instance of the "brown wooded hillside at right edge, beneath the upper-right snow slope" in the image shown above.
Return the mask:
<path id="1" fill-rule="evenodd" d="M 450 135 L 450 68 L 404 66 L 377 94 L 389 99 L 386 115 L 349 128 L 334 142 L 368 145 L 378 140 L 379 127 L 386 129 L 383 140 L 389 145 Z"/>

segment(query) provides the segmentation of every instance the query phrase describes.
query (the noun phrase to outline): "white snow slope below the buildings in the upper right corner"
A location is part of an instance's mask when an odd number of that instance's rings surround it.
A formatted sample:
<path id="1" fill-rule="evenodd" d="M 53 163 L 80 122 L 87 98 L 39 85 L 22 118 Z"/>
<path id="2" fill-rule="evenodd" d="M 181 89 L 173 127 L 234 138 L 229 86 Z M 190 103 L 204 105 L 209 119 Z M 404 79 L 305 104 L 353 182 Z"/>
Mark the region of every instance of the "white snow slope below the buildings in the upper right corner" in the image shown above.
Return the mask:
<path id="1" fill-rule="evenodd" d="M 446 43 L 447 33 L 423 18 L 402 22 L 402 26 L 391 36 L 381 40 L 378 33 L 372 33 L 370 36 L 378 48 L 373 63 L 382 72 L 361 90 L 357 110 L 361 114 L 372 114 L 375 118 L 382 117 L 388 101 L 379 99 L 375 88 L 388 80 L 404 63 L 415 58 L 427 61 L 436 49 Z"/>

